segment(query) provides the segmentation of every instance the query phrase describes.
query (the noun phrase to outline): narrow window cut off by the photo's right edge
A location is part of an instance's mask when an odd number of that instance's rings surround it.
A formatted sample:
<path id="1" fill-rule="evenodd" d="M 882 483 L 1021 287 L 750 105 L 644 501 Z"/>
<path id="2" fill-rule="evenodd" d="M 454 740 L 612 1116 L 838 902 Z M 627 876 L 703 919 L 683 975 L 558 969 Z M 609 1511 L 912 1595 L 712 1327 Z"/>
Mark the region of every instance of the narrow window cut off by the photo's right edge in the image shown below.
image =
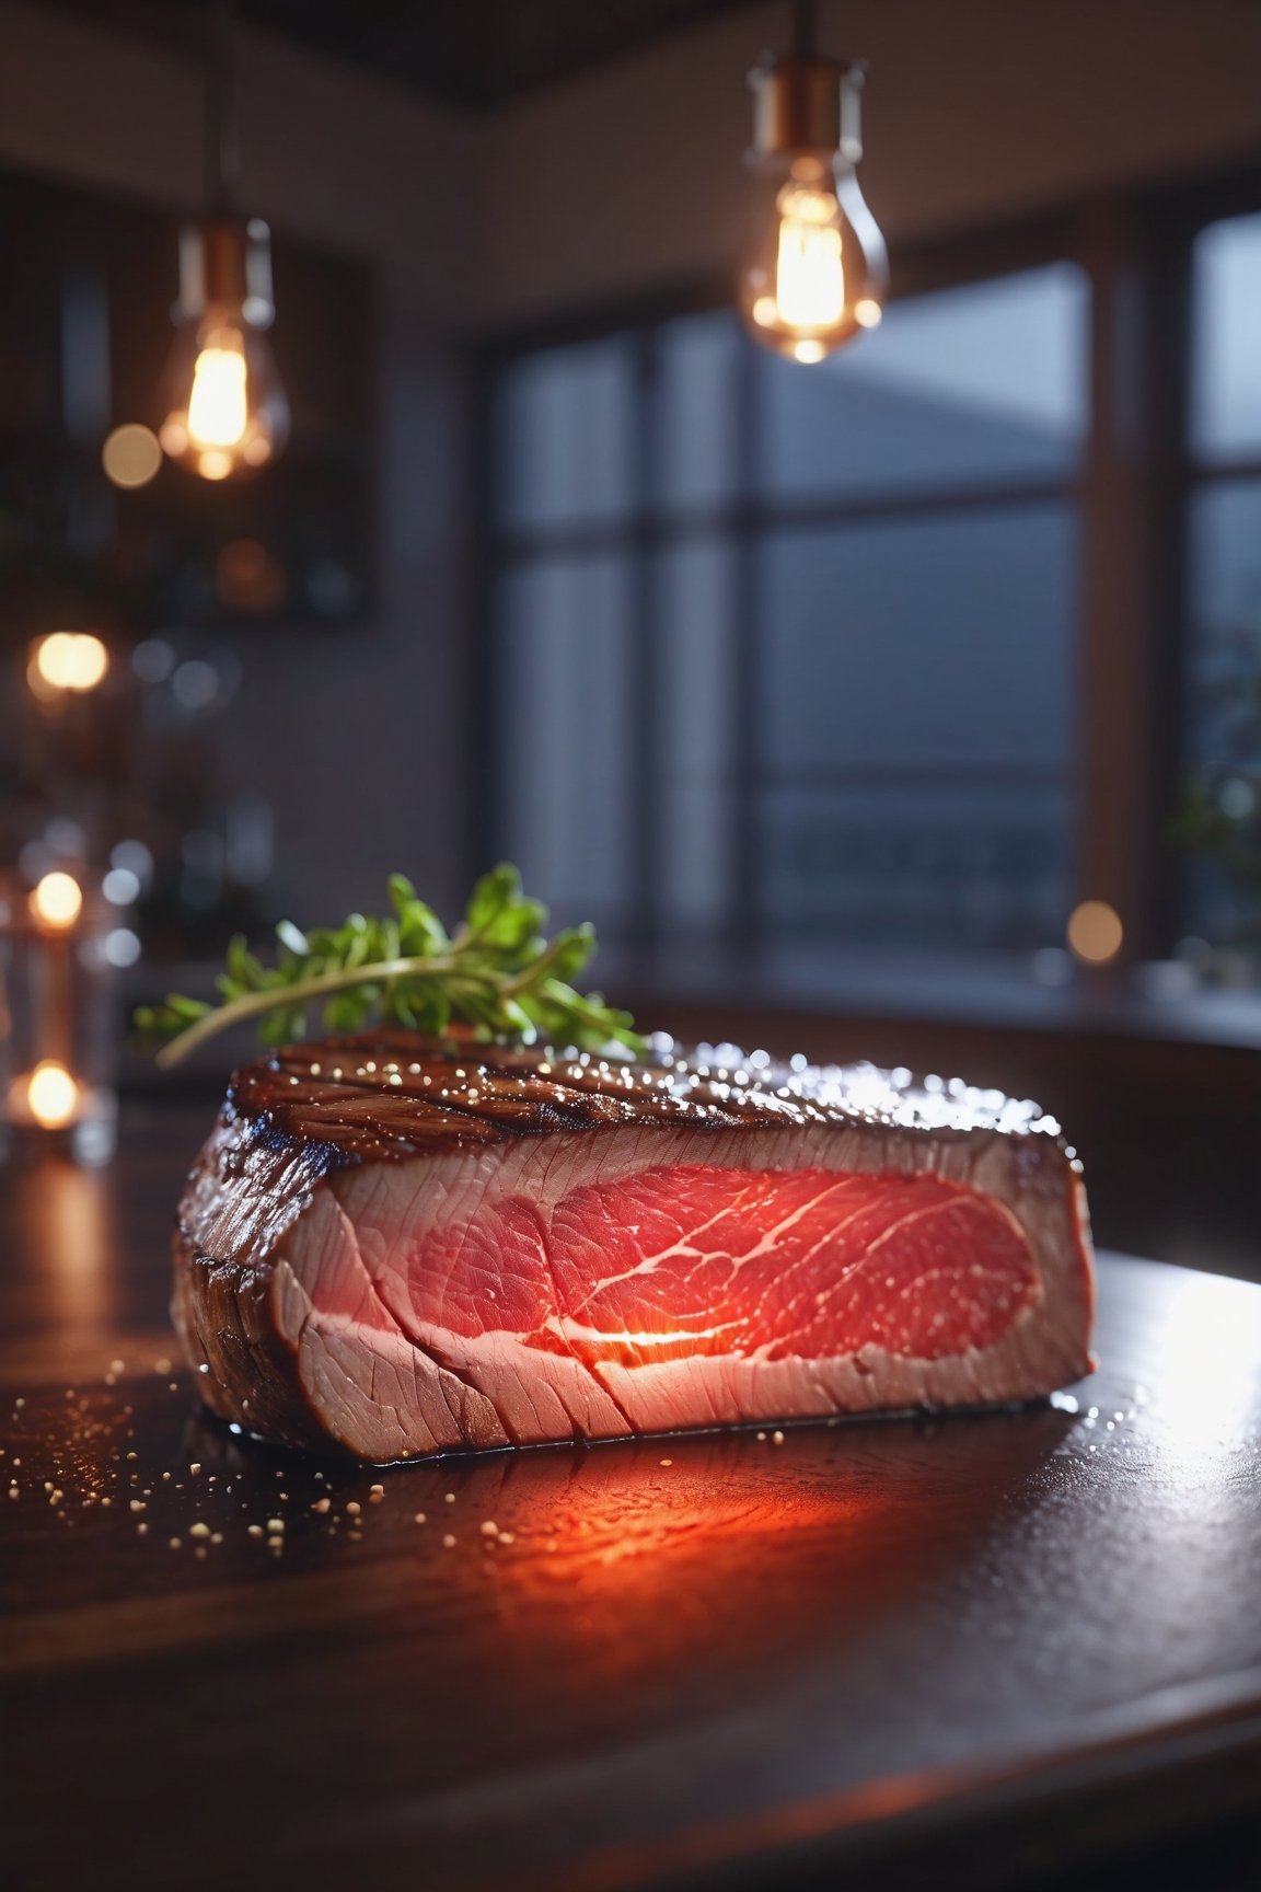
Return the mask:
<path id="1" fill-rule="evenodd" d="M 1187 433 L 1183 761 L 1204 846 L 1183 912 L 1235 944 L 1261 920 L 1261 214 L 1193 240 Z"/>

